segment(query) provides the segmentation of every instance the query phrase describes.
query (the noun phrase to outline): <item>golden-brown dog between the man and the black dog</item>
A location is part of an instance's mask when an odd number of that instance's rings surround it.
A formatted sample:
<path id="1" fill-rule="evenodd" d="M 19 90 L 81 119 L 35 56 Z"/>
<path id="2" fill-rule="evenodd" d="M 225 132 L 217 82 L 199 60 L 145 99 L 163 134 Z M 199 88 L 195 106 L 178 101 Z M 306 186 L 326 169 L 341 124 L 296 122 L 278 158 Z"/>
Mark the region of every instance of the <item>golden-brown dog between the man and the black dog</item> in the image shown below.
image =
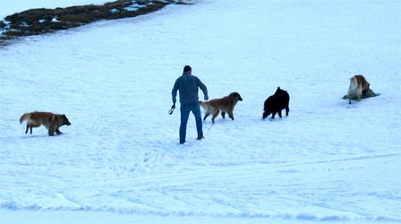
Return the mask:
<path id="1" fill-rule="evenodd" d="M 224 98 L 210 99 L 206 102 L 200 101 L 200 107 L 205 109 L 205 116 L 203 117 L 203 120 L 206 120 L 206 117 L 209 115 L 213 115 L 211 121 L 215 123 L 215 118 L 218 116 L 220 111 L 223 119 L 226 118 L 226 113 L 228 113 L 228 116 L 234 120 L 233 111 L 238 100 L 242 101 L 243 98 L 238 92 L 233 92 Z"/>

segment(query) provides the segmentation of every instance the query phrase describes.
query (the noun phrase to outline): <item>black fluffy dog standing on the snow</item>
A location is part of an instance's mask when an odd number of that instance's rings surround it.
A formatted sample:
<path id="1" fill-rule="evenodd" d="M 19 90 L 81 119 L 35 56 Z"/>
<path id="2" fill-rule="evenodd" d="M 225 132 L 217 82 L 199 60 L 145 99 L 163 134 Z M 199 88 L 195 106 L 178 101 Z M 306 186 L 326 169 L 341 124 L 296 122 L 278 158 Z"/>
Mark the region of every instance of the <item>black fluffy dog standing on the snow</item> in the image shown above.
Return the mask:
<path id="1" fill-rule="evenodd" d="M 282 109 L 286 109 L 286 116 L 288 116 L 288 112 L 290 111 L 290 108 L 288 108 L 289 102 L 290 96 L 288 95 L 288 92 L 286 92 L 286 90 L 281 90 L 280 87 L 277 87 L 274 95 L 265 100 L 265 112 L 263 113 L 263 119 L 268 117 L 270 114 L 272 114 L 271 118 L 274 118 L 276 113 L 278 113 L 278 116 L 281 118 Z"/>

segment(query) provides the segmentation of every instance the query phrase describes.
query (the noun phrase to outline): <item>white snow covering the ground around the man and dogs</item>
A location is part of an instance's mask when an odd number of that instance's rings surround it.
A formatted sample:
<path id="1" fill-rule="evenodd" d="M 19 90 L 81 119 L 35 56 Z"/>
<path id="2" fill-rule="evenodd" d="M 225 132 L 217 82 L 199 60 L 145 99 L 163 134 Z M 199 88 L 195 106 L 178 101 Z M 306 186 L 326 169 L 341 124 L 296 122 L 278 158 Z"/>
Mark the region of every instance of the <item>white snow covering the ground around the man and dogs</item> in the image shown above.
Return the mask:
<path id="1" fill-rule="evenodd" d="M 200 0 L 1 47 L 1 223 L 401 222 L 400 8 Z M 243 101 L 179 145 L 183 65 Z M 381 95 L 342 99 L 356 73 Z M 289 116 L 261 120 L 277 86 Z M 26 135 L 34 110 L 72 125 Z"/>

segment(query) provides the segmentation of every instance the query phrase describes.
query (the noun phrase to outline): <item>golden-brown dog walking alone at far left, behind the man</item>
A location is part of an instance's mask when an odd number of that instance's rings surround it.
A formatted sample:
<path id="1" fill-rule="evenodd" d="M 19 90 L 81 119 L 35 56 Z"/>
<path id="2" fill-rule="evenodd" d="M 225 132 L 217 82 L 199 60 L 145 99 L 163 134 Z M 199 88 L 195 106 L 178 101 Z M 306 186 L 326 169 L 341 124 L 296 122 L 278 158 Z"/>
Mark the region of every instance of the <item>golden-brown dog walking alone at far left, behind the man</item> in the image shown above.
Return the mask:
<path id="1" fill-rule="evenodd" d="M 22 122 L 27 121 L 27 130 L 25 134 L 28 133 L 28 129 L 30 129 L 30 134 L 32 134 L 32 127 L 38 127 L 40 125 L 44 125 L 48 130 L 49 136 L 54 136 L 55 134 L 63 134 L 58 129 L 62 125 L 71 125 L 70 121 L 68 121 L 67 116 L 65 115 L 56 115 L 50 112 L 30 112 L 25 113 L 20 118 L 20 124 Z"/>

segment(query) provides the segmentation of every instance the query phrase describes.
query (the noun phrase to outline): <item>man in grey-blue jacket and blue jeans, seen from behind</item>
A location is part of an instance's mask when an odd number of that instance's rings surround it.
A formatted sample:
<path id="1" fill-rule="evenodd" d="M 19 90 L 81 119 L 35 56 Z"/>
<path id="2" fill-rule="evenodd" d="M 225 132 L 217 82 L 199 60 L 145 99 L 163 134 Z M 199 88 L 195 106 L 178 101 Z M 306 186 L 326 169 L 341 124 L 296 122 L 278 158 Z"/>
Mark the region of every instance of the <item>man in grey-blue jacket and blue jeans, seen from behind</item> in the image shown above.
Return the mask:
<path id="1" fill-rule="evenodd" d="M 192 111 L 195 116 L 196 130 L 198 132 L 198 140 L 203 139 L 202 130 L 202 117 L 200 116 L 200 104 L 198 97 L 198 88 L 203 91 L 204 99 L 208 100 L 208 88 L 203 84 L 198 77 L 192 75 L 192 68 L 190 65 L 183 67 L 183 75 L 180 76 L 174 84 L 171 91 L 173 96 L 173 107 L 175 108 L 177 90 L 180 90 L 180 103 L 181 103 L 181 125 L 180 125 L 180 144 L 185 142 L 186 125 L 190 112 Z"/>

